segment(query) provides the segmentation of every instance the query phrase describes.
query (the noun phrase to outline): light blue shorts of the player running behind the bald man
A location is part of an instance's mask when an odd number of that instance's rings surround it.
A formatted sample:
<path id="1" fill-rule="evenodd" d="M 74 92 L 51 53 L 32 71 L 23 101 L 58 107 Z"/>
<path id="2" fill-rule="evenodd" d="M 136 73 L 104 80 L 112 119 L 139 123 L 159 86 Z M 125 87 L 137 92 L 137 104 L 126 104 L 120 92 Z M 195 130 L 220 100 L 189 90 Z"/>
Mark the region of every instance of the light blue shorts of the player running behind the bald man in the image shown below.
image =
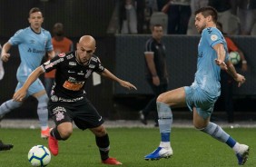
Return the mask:
<path id="1" fill-rule="evenodd" d="M 17 90 L 19 90 L 24 85 L 26 79 L 27 79 L 26 76 L 18 77 L 18 84 L 16 86 L 15 92 Z M 40 79 L 36 79 L 34 81 L 34 83 L 32 83 L 29 86 L 26 96 L 32 95 L 34 93 L 38 93 L 38 92 L 43 91 L 43 90 L 44 90 L 44 84 L 40 81 Z"/>

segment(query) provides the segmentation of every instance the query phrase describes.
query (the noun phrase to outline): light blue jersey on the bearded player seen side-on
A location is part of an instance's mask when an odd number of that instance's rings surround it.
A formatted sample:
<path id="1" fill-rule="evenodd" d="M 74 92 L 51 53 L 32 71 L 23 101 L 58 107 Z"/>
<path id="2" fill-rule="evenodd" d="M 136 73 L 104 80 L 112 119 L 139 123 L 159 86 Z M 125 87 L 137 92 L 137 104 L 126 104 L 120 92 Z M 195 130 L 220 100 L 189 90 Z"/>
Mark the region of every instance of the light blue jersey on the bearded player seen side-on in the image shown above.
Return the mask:
<path id="1" fill-rule="evenodd" d="M 215 27 L 205 28 L 202 31 L 202 37 L 198 45 L 197 72 L 194 81 L 203 91 L 211 93 L 213 96 L 221 94 L 221 68 L 215 63 L 217 53 L 213 49 L 216 44 L 224 44 L 226 62 L 228 60 L 228 49 L 222 33 Z"/>

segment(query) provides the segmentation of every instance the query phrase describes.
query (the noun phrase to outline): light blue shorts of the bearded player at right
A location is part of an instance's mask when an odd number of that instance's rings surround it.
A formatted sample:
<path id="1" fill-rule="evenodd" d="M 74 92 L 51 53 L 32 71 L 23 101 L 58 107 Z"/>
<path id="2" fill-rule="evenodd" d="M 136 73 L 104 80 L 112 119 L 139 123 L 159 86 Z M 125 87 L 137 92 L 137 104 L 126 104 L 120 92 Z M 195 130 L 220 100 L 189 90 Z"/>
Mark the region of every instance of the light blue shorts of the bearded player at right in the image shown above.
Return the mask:
<path id="1" fill-rule="evenodd" d="M 197 84 L 185 86 L 184 89 L 186 93 L 186 103 L 189 109 L 192 111 L 192 108 L 195 107 L 197 113 L 201 115 L 203 119 L 210 117 L 214 103 L 219 96 L 203 91 Z"/>

